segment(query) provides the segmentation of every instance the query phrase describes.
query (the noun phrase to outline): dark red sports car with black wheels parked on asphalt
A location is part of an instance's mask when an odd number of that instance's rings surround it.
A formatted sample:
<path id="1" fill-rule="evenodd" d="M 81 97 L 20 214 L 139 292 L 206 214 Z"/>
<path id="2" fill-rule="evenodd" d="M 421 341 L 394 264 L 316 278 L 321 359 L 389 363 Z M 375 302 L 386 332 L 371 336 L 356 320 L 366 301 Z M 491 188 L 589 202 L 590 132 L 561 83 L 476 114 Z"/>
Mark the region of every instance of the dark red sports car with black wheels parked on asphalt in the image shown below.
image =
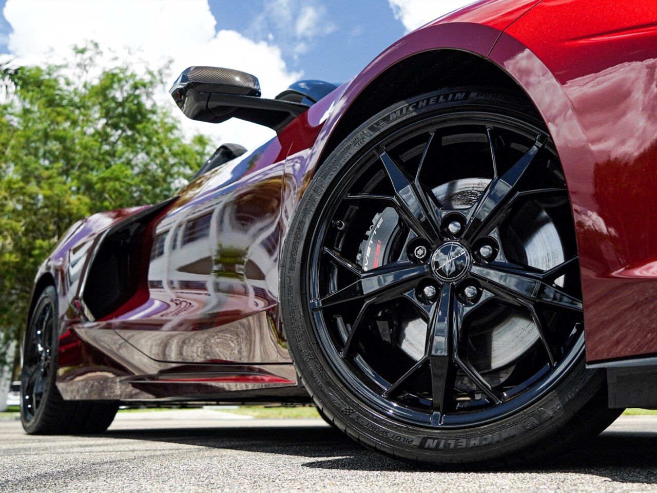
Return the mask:
<path id="1" fill-rule="evenodd" d="M 171 95 L 277 137 L 69 229 L 35 280 L 28 433 L 314 402 L 384 454 L 495 466 L 657 408 L 657 3 L 484 1 L 340 86 L 261 99 L 195 66 Z"/>

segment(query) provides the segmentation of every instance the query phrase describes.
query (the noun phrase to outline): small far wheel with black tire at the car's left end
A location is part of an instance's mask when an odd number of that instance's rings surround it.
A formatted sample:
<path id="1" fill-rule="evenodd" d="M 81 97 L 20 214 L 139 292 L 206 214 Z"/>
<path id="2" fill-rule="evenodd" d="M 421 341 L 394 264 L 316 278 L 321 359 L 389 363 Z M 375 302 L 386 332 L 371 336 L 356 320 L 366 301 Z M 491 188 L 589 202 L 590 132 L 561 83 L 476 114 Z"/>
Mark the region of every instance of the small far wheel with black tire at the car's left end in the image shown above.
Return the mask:
<path id="1" fill-rule="evenodd" d="M 23 342 L 20 377 L 23 429 L 28 434 L 102 433 L 112 423 L 118 404 L 66 401 L 57 390 L 57 321 L 57 293 L 49 286 L 34 305 Z M 39 382 L 37 392 L 36 381 Z"/>

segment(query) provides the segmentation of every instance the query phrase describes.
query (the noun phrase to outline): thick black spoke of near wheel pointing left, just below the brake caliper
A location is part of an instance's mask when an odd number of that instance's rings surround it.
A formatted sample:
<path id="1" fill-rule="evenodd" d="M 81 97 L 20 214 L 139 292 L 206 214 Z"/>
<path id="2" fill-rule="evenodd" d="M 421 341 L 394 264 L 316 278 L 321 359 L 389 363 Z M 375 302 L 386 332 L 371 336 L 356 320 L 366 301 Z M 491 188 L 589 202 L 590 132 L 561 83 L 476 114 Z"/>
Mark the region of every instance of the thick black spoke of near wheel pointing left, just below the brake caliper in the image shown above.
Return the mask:
<path id="1" fill-rule="evenodd" d="M 392 262 L 363 272 L 354 283 L 335 293 L 328 294 L 324 298 L 313 300 L 311 308 L 321 310 L 328 306 L 371 296 L 376 296 L 378 302 L 396 298 L 429 272 L 430 267 L 427 265 L 417 266 L 411 262 Z"/>

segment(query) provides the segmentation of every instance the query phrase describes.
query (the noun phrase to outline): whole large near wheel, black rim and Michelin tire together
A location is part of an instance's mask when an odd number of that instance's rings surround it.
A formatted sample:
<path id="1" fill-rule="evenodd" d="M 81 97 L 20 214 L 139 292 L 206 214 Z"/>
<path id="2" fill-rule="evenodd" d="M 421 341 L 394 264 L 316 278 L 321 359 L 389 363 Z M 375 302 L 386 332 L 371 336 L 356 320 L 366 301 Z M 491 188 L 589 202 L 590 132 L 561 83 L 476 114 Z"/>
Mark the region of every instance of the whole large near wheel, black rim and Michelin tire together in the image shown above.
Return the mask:
<path id="1" fill-rule="evenodd" d="M 564 175 L 521 99 L 464 88 L 387 108 L 327 158 L 298 211 L 281 274 L 290 352 L 353 438 L 493 465 L 617 415 L 584 367 Z"/>

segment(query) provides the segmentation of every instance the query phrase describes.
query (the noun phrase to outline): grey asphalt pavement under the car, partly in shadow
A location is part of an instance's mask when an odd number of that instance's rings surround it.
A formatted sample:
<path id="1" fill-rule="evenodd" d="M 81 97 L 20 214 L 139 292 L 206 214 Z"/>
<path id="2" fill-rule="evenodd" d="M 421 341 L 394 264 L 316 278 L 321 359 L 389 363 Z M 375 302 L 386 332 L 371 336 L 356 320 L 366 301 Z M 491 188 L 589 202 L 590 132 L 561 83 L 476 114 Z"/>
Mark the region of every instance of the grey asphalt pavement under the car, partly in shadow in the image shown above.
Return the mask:
<path id="1" fill-rule="evenodd" d="M 28 436 L 0 421 L 0 492 L 657 492 L 657 415 L 622 416 L 540 466 L 424 471 L 321 419 L 215 410 L 119 413 L 102 436 Z"/>

